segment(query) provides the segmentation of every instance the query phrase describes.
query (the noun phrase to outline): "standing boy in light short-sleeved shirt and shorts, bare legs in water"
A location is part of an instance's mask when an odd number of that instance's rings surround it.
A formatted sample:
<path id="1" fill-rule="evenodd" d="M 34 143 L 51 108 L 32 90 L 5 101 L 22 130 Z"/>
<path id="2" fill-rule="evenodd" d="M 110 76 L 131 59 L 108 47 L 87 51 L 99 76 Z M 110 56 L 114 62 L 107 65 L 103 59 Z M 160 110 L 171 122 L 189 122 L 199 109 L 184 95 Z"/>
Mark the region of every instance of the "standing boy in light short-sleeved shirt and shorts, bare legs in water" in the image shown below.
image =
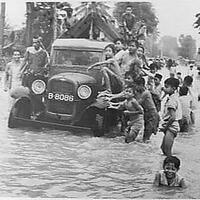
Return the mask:
<path id="1" fill-rule="evenodd" d="M 164 92 L 168 98 L 164 105 L 163 124 L 160 131 L 164 133 L 161 149 L 166 156 L 172 154 L 172 146 L 174 138 L 180 130 L 178 120 L 182 118 L 181 104 L 177 94 L 179 80 L 176 78 L 168 78 L 164 82 Z"/>

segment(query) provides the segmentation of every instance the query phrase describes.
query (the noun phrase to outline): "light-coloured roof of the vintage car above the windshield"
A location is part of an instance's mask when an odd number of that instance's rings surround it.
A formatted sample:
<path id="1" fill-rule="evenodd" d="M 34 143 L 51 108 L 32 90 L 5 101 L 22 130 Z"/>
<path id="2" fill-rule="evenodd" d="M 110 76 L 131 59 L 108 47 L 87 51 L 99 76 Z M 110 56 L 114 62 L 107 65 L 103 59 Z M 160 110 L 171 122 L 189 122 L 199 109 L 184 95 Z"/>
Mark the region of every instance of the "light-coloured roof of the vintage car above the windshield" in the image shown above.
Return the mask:
<path id="1" fill-rule="evenodd" d="M 101 42 L 82 38 L 67 38 L 56 39 L 52 46 L 54 49 L 85 49 L 102 51 L 108 44 L 112 44 L 112 42 Z"/>

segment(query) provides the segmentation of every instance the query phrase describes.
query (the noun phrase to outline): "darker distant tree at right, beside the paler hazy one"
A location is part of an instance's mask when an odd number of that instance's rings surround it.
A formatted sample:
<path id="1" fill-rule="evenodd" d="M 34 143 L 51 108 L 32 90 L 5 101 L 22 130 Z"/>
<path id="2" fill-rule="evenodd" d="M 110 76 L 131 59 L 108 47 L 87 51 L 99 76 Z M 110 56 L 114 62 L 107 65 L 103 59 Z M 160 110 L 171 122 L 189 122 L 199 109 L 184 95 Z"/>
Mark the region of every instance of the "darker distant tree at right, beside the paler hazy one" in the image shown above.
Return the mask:
<path id="1" fill-rule="evenodd" d="M 179 56 L 183 58 L 193 59 L 196 53 L 196 41 L 191 35 L 184 36 L 183 34 L 179 36 Z"/>

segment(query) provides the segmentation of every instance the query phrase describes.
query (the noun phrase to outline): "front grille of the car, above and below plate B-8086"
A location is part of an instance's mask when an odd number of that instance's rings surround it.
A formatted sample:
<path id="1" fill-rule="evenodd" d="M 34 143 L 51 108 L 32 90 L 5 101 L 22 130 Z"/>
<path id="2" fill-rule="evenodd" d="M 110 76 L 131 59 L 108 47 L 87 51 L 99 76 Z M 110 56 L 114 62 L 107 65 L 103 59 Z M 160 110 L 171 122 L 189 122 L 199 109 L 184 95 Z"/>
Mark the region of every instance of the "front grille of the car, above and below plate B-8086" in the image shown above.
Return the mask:
<path id="1" fill-rule="evenodd" d="M 53 94 L 74 95 L 74 85 L 66 81 L 52 80 L 48 92 Z M 49 112 L 71 115 L 74 109 L 74 101 L 64 101 L 47 98 L 47 109 Z"/>

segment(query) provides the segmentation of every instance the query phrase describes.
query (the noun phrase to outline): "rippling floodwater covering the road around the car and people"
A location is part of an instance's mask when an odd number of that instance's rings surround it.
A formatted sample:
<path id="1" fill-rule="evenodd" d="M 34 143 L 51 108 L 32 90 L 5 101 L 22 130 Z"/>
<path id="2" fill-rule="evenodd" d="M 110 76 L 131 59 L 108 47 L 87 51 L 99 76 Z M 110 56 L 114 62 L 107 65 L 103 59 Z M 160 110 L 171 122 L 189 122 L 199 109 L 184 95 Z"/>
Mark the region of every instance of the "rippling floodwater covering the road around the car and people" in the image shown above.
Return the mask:
<path id="1" fill-rule="evenodd" d="M 148 144 L 126 144 L 122 136 L 9 129 L 7 94 L 0 92 L 0 197 L 200 198 L 200 104 L 195 126 L 179 134 L 173 148 L 188 187 L 157 188 L 152 182 L 165 158 L 162 133 Z"/>

